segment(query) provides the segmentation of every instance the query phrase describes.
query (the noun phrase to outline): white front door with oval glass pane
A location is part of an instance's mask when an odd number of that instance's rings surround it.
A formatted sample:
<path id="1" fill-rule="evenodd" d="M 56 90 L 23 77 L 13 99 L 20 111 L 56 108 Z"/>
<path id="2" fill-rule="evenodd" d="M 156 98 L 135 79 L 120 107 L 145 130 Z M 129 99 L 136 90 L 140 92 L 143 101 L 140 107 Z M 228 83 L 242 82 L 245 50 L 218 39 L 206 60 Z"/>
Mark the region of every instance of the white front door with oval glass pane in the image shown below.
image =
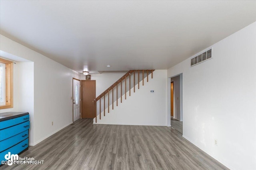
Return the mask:
<path id="1" fill-rule="evenodd" d="M 73 79 L 73 122 L 80 119 L 80 81 Z"/>

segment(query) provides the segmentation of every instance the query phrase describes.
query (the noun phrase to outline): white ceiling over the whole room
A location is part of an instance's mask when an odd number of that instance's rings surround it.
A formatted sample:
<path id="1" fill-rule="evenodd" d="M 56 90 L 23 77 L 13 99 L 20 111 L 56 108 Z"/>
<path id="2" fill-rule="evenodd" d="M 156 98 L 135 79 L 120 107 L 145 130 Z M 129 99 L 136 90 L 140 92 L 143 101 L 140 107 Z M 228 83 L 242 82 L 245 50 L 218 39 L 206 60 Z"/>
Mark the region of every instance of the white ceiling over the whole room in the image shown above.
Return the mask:
<path id="1" fill-rule="evenodd" d="M 254 21 L 256 1 L 0 1 L 2 35 L 77 72 L 168 69 Z"/>

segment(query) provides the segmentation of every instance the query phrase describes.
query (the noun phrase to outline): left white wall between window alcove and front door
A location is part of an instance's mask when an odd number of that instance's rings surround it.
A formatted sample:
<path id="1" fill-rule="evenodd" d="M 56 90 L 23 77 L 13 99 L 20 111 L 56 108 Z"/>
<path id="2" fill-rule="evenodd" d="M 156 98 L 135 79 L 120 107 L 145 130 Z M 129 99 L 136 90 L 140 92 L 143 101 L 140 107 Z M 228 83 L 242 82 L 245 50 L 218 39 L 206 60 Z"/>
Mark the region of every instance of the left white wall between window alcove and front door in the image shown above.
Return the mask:
<path id="1" fill-rule="evenodd" d="M 34 141 L 30 145 L 36 145 L 72 123 L 72 78 L 80 75 L 3 35 L 0 44 L 1 51 L 34 62 L 34 134 L 30 134 Z"/>

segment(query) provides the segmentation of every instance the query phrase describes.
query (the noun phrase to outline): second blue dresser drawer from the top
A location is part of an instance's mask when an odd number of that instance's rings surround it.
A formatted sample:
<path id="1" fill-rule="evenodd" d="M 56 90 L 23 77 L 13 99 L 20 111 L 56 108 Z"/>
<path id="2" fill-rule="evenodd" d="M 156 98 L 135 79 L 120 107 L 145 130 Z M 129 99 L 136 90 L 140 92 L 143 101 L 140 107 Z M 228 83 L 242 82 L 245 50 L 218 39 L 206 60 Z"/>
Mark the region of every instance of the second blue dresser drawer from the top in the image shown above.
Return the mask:
<path id="1" fill-rule="evenodd" d="M 28 130 L 30 127 L 29 123 L 30 123 L 29 121 L 26 121 L 16 126 L 12 126 L 12 127 L 0 130 L 0 141 L 4 139 L 8 139 L 9 137 L 17 135 L 25 130 Z"/>

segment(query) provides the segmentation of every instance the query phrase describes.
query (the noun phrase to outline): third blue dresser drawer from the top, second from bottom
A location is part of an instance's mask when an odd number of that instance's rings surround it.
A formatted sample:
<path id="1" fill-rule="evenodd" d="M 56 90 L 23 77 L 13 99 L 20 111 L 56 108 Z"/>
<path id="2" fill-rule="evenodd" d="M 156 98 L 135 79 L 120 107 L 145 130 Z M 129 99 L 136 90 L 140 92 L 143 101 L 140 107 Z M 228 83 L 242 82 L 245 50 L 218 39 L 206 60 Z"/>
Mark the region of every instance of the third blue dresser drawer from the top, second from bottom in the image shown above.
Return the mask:
<path id="1" fill-rule="evenodd" d="M 3 141 L 0 141 L 0 152 L 16 145 L 17 143 L 23 141 L 26 138 L 28 138 L 28 130 Z"/>

